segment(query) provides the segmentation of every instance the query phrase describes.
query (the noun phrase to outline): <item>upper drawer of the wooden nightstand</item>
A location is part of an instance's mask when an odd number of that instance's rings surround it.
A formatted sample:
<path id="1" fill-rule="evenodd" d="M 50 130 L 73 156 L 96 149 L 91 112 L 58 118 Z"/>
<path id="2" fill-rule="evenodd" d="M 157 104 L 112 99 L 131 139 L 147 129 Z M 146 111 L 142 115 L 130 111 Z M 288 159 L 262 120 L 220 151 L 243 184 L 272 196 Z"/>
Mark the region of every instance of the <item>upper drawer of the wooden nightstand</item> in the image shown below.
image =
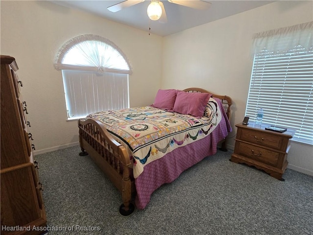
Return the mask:
<path id="1" fill-rule="evenodd" d="M 267 147 L 272 147 L 275 149 L 281 149 L 283 146 L 284 138 L 273 135 L 272 133 L 257 132 L 250 129 L 242 129 L 240 136 L 237 139 L 255 143 L 258 145 L 263 145 Z M 287 139 L 287 142 L 289 139 Z"/>

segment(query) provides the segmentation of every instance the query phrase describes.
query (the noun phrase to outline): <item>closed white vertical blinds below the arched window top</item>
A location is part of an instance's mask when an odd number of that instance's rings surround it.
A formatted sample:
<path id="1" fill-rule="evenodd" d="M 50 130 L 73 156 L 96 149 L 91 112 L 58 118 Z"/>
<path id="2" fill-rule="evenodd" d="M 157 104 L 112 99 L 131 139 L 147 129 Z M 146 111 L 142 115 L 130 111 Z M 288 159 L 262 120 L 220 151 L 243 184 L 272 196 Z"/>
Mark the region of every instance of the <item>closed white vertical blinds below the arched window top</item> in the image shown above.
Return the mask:
<path id="1" fill-rule="evenodd" d="M 128 74 L 62 70 L 67 118 L 129 108 Z"/>

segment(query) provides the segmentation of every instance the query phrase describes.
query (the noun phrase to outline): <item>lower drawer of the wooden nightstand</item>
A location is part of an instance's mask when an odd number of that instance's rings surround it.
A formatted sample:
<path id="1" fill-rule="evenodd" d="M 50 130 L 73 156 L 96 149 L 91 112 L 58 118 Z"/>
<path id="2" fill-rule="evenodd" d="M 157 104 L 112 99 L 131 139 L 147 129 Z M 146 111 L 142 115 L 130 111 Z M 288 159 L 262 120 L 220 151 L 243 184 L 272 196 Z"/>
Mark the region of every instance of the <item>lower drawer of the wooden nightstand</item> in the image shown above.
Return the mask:
<path id="1" fill-rule="evenodd" d="M 277 166 L 280 156 L 278 152 L 240 141 L 236 141 L 234 153 L 272 166 Z"/>

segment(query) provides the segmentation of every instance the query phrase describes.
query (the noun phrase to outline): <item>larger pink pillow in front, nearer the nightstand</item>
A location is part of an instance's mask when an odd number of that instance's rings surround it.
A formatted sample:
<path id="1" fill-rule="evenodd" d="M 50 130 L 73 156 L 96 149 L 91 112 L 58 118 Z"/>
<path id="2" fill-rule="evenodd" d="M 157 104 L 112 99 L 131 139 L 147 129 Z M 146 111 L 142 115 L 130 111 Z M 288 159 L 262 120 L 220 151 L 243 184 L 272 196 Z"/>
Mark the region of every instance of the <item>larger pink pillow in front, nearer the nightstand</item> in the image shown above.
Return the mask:
<path id="1" fill-rule="evenodd" d="M 204 108 L 211 94 L 208 93 L 188 93 L 179 91 L 173 111 L 179 114 L 189 114 L 195 117 L 202 117 Z"/>

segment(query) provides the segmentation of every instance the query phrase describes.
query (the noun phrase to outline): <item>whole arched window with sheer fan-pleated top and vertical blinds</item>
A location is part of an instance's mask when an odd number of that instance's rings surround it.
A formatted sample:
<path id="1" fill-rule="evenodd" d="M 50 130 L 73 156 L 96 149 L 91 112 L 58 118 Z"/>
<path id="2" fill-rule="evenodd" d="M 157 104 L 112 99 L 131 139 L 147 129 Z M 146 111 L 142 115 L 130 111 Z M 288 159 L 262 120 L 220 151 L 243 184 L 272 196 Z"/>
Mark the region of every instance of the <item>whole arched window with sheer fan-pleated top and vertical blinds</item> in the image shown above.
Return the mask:
<path id="1" fill-rule="evenodd" d="M 124 53 L 110 40 L 81 35 L 65 43 L 55 57 L 62 70 L 67 119 L 101 110 L 129 108 L 129 74 Z"/>

